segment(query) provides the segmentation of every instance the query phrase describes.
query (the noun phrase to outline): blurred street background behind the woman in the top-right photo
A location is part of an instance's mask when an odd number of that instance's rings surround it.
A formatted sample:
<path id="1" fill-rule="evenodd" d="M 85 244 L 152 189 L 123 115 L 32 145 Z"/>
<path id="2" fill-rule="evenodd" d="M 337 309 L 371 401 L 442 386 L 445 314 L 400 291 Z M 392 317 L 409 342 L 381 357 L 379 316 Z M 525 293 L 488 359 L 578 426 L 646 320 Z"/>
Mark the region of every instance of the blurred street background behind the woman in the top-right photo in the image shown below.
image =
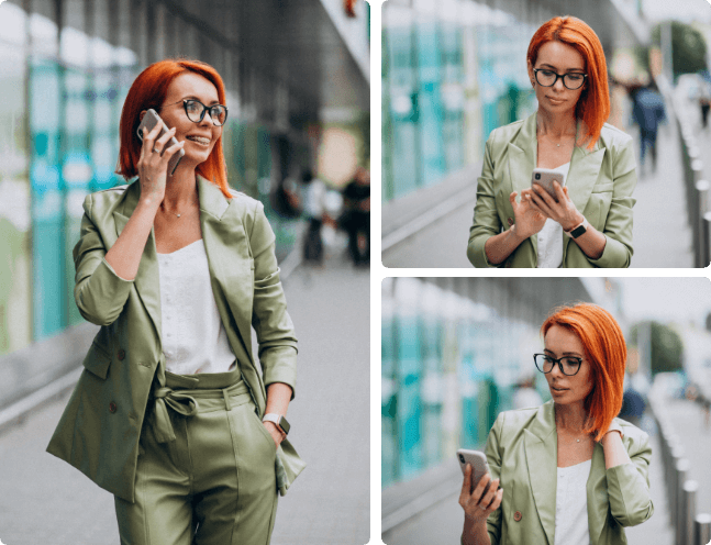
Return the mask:
<path id="1" fill-rule="evenodd" d="M 526 51 L 538 26 L 558 15 L 581 19 L 600 38 L 608 123 L 635 141 L 631 266 L 711 263 L 711 162 L 700 153 L 711 145 L 709 2 L 389 0 L 381 33 L 386 267 L 471 267 L 466 247 L 485 143 L 493 129 L 537 110 Z"/>

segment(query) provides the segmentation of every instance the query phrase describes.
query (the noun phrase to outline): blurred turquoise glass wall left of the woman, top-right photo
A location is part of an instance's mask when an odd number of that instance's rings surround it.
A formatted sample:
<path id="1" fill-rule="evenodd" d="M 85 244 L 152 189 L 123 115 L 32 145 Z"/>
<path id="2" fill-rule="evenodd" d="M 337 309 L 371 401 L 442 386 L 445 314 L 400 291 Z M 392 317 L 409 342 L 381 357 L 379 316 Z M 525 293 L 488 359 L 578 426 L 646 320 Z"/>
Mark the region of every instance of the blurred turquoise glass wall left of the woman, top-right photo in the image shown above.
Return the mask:
<path id="1" fill-rule="evenodd" d="M 470 0 L 382 10 L 382 201 L 484 157 L 489 133 L 536 108 L 535 29 Z"/>

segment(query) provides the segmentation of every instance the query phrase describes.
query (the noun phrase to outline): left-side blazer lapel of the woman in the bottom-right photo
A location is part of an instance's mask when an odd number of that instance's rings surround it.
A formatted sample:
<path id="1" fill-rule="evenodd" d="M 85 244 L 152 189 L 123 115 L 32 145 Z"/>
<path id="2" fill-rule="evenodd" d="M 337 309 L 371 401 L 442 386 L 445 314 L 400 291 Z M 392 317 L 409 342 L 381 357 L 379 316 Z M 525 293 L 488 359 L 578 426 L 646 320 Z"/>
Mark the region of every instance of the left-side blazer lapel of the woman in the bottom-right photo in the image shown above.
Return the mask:
<path id="1" fill-rule="evenodd" d="M 531 491 L 541 525 L 552 545 L 555 543 L 556 507 L 555 503 L 551 504 L 551 498 L 556 497 L 558 477 L 558 435 L 555 433 L 553 400 L 541 405 L 536 418 L 524 432 Z"/>

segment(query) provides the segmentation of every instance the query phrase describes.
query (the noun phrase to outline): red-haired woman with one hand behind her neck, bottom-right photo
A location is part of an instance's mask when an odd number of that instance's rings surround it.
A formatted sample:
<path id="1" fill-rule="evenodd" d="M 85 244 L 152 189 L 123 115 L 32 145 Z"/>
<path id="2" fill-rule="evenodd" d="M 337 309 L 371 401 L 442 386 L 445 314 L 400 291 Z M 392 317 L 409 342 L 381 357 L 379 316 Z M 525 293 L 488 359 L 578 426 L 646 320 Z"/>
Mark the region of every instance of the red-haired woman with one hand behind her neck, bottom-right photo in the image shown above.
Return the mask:
<path id="1" fill-rule="evenodd" d="M 580 303 L 558 309 L 541 332 L 545 348 L 534 362 L 553 399 L 499 414 L 486 447 L 491 476 L 469 493 L 465 471 L 462 543 L 625 544 L 623 526 L 649 519 L 654 505 L 648 436 L 615 418 L 627 357 L 622 331 L 602 308 Z"/>

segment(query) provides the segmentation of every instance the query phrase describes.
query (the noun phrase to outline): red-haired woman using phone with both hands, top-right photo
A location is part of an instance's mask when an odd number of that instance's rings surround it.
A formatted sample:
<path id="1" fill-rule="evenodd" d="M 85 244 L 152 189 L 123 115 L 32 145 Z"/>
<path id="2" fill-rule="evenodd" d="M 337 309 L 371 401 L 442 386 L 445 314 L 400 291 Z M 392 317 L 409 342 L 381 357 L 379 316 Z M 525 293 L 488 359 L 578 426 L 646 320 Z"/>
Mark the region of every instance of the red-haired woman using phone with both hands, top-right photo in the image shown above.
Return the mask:
<path id="1" fill-rule="evenodd" d="M 533 35 L 527 66 L 538 110 L 489 135 L 467 257 L 475 267 L 629 267 L 635 159 L 632 137 L 604 122 L 598 36 L 579 19 L 554 18 Z M 557 199 L 531 189 L 536 167 L 564 174 Z"/>

